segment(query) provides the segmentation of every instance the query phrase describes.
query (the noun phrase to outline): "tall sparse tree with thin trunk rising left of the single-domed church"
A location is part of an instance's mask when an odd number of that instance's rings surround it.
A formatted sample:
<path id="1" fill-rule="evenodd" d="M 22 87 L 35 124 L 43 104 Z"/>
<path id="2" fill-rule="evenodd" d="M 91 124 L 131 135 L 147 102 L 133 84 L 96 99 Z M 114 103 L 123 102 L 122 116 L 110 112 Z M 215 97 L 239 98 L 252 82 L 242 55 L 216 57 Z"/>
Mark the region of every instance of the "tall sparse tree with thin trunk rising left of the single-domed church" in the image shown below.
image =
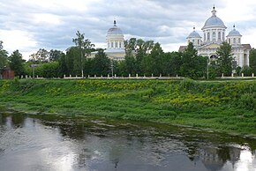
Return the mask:
<path id="1" fill-rule="evenodd" d="M 85 65 L 85 58 L 91 54 L 94 44 L 92 44 L 92 42 L 89 41 L 88 39 L 85 40 L 84 33 L 79 33 L 79 31 L 77 31 L 76 35 L 77 35 L 77 38 L 74 38 L 72 41 L 76 44 L 77 48 L 79 48 L 79 54 L 80 54 L 79 68 L 80 68 L 82 77 L 84 77 L 83 66 Z"/>

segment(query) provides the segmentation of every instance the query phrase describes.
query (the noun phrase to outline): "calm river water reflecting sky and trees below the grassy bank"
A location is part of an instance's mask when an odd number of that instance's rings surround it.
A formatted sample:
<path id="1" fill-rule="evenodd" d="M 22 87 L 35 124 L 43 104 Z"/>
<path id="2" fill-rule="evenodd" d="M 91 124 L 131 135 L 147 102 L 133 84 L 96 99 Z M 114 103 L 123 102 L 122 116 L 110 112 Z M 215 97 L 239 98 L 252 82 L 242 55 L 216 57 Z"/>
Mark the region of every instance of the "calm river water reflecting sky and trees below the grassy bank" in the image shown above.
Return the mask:
<path id="1" fill-rule="evenodd" d="M 0 113 L 1 171 L 255 171 L 256 140 L 95 117 Z"/>

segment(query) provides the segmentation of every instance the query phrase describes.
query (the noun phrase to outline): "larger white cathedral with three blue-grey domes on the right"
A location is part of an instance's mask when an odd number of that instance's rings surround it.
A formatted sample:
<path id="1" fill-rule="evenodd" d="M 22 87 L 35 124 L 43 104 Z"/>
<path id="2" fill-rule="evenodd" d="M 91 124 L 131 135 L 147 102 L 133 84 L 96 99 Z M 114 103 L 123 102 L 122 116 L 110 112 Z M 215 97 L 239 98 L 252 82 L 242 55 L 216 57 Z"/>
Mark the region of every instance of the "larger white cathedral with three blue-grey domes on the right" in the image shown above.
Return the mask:
<path id="1" fill-rule="evenodd" d="M 192 42 L 194 47 L 197 48 L 200 56 L 208 56 L 210 59 L 217 57 L 217 48 L 220 48 L 223 41 L 230 43 L 232 48 L 232 55 L 237 62 L 237 66 L 249 66 L 249 53 L 251 50 L 250 44 L 242 44 L 242 35 L 239 33 L 235 26 L 233 30 L 225 37 L 227 27 L 224 25 L 222 19 L 216 16 L 215 7 L 212 11 L 212 16 L 207 19 L 205 25 L 202 27 L 203 39 L 199 33 L 193 28 L 193 32 L 186 38 L 187 42 Z M 184 51 L 186 46 L 181 46 L 179 51 Z"/>

